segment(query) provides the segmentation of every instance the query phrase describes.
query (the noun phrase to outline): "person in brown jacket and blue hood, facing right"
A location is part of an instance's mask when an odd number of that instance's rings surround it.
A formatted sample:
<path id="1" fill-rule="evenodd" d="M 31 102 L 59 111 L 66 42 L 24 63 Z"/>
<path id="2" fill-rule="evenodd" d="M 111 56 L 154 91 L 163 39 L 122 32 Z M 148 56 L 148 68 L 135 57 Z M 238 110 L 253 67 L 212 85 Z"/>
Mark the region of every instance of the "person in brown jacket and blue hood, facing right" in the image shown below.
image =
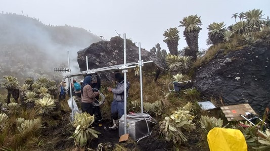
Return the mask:
<path id="1" fill-rule="evenodd" d="M 94 98 L 99 95 L 99 92 L 93 92 L 91 81 L 92 77 L 86 76 L 81 85 L 81 111 L 82 113 L 86 112 L 91 116 L 93 116 L 94 115 L 93 101 Z"/>

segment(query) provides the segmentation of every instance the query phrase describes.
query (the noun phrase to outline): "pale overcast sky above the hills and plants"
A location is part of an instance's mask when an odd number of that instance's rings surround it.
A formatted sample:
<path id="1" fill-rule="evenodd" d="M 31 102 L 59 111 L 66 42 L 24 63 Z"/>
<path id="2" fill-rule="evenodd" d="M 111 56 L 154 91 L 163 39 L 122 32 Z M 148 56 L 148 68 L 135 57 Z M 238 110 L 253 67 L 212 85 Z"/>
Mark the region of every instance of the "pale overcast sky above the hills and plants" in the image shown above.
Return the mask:
<path id="1" fill-rule="evenodd" d="M 0 13 L 23 13 L 46 25 L 81 27 L 107 40 L 117 36 L 116 30 L 121 37 L 126 33 L 137 46 L 141 42 L 141 47 L 148 51 L 156 43 L 168 51 L 162 34 L 170 27 L 180 31 L 178 49 L 187 46 L 184 27 L 178 27 L 186 16 L 201 16 L 203 29 L 199 34 L 199 49 L 205 49 L 208 47 L 206 27 L 210 23 L 224 22 L 228 27 L 235 23 L 231 18 L 234 13 L 252 9 L 262 10 L 266 18 L 270 16 L 269 6 L 269 0 L 0 0 Z"/>

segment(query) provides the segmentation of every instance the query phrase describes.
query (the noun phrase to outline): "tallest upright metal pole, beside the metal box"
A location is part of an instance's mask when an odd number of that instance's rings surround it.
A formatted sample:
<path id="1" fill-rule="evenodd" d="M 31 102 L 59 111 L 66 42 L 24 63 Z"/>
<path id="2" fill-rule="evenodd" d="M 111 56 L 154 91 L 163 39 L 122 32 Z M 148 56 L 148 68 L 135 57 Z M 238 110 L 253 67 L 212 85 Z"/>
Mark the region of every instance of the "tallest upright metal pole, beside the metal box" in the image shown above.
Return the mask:
<path id="1" fill-rule="evenodd" d="M 126 38 L 124 33 L 124 66 L 126 66 Z M 127 69 L 125 69 L 127 70 Z M 121 117 L 120 117 L 121 118 Z M 124 134 L 126 134 L 126 71 L 124 72 Z"/>

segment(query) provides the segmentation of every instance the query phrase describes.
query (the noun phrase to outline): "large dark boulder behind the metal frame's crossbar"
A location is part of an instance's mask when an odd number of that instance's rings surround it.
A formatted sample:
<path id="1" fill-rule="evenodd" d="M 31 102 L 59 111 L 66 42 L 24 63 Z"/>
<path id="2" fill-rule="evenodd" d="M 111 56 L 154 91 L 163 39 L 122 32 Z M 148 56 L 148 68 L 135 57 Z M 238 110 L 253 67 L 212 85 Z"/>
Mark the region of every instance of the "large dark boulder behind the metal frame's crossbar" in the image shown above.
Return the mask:
<path id="1" fill-rule="evenodd" d="M 113 65 L 121 65 L 124 63 L 123 39 L 119 36 L 112 37 L 110 41 L 99 41 L 91 44 L 89 47 L 78 52 L 78 64 L 80 71 L 86 70 L 86 56 L 88 57 L 88 68 L 97 69 L 102 67 L 110 67 Z M 165 64 L 145 49 L 141 51 L 141 57 L 144 62 L 154 61 L 153 64 L 157 68 L 163 69 Z M 126 63 L 139 61 L 139 48 L 130 40 L 126 40 Z M 145 64 L 146 65 L 146 64 Z M 112 80 L 112 74 L 105 72 L 103 78 Z"/>

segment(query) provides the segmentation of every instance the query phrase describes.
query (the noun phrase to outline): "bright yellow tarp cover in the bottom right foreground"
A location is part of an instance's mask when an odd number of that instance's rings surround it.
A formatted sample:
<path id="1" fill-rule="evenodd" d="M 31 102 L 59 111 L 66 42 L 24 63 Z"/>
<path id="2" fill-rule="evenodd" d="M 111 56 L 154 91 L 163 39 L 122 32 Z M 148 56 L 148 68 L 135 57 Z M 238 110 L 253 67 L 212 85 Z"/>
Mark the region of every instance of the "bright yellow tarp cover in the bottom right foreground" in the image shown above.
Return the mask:
<path id="1" fill-rule="evenodd" d="M 247 143 L 240 130 L 215 127 L 207 134 L 210 151 L 247 151 Z"/>

